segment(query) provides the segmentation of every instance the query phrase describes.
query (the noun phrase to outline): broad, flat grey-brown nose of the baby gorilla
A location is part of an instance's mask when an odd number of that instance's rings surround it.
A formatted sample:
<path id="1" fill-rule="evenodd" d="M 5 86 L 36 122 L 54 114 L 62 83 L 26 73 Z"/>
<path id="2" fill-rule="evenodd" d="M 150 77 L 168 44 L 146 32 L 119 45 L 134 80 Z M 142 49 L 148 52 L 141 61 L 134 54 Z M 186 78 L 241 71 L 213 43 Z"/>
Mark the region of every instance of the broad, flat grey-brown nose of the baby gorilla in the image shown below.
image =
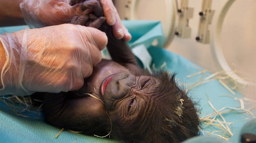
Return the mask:
<path id="1" fill-rule="evenodd" d="M 135 85 L 135 76 L 130 73 L 120 73 L 112 78 L 111 95 L 114 99 L 121 99 L 128 93 L 133 85 Z"/>

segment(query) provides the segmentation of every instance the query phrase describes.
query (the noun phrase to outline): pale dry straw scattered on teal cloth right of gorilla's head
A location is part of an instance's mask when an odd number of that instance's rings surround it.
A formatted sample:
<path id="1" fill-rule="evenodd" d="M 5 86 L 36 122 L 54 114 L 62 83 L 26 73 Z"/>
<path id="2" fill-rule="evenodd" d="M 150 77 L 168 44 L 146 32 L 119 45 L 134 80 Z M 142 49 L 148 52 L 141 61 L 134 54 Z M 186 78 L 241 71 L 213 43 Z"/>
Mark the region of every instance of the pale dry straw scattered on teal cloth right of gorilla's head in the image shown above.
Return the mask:
<path id="1" fill-rule="evenodd" d="M 201 77 L 199 80 L 197 80 L 197 82 L 191 84 L 188 87 L 188 89 L 194 88 L 195 86 L 199 86 L 201 84 L 205 84 L 207 82 L 211 82 L 213 80 L 217 80 L 223 87 L 225 87 L 232 94 L 232 95 L 222 95 L 222 96 L 230 97 L 233 100 L 237 100 L 240 102 L 239 108 L 222 107 L 221 109 L 217 110 L 217 109 L 215 109 L 213 104 L 210 102 L 208 95 L 206 95 L 208 104 L 210 105 L 210 107 L 213 109 L 214 112 L 200 117 L 202 124 L 204 124 L 204 126 L 202 127 L 202 129 L 200 131 L 202 132 L 203 135 L 215 135 L 222 139 L 228 140 L 231 136 L 233 136 L 232 124 L 234 124 L 236 122 L 241 122 L 244 120 L 255 118 L 255 114 L 252 113 L 252 110 L 256 109 L 256 101 L 249 99 L 246 96 L 241 97 L 241 98 L 234 97 L 235 92 L 233 90 L 236 89 L 236 80 L 231 79 L 230 76 L 226 74 L 226 71 L 218 71 L 214 74 L 206 74 L 207 69 L 201 70 L 199 67 L 196 67 L 196 68 L 199 70 L 199 72 L 197 72 L 195 74 L 188 75 L 187 78 L 191 78 L 191 77 L 199 76 L 199 75 L 201 75 Z M 239 71 L 234 70 L 233 72 L 237 73 Z M 241 72 L 241 73 L 243 73 L 243 72 Z M 234 82 L 235 86 L 230 87 L 230 85 L 223 82 L 223 80 L 226 80 L 226 79 L 232 80 L 230 82 Z M 244 80 L 250 80 L 250 82 L 253 81 L 252 78 L 248 78 L 248 79 L 244 78 Z M 250 107 L 246 108 L 245 105 L 250 106 Z M 238 120 L 236 122 L 228 122 L 224 118 L 223 114 L 227 114 L 227 113 L 231 113 L 231 112 L 236 112 L 238 114 L 246 114 L 249 117 L 244 118 L 243 120 Z M 213 126 L 217 129 L 215 131 L 208 132 L 208 131 L 204 130 L 204 128 L 206 128 L 207 126 Z"/>

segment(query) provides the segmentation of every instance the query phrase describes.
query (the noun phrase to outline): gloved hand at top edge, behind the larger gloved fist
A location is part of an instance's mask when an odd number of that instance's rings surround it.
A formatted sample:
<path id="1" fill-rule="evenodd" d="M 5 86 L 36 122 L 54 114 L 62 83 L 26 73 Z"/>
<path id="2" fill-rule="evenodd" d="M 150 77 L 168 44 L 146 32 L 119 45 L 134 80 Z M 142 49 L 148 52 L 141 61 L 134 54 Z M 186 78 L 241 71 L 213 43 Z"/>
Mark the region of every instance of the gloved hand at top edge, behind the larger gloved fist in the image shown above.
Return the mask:
<path id="1" fill-rule="evenodd" d="M 81 11 L 79 4 L 70 6 L 69 0 L 23 0 L 20 9 L 31 28 L 69 23 L 72 17 L 89 13 Z"/>

